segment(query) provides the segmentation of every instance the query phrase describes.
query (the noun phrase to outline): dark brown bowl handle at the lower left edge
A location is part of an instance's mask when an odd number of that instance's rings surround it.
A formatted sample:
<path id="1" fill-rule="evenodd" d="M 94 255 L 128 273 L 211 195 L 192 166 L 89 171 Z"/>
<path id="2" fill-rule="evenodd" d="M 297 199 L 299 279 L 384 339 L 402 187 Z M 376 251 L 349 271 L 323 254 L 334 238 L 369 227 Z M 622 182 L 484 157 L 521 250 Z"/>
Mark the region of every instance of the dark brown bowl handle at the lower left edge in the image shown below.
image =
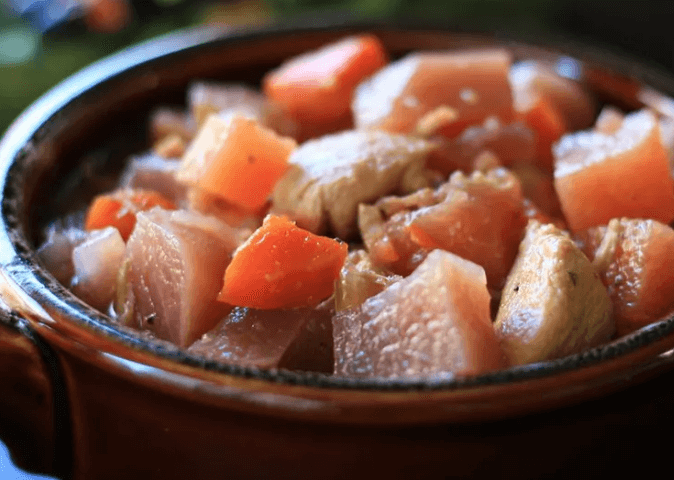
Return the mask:
<path id="1" fill-rule="evenodd" d="M 19 468 L 67 475 L 68 408 L 56 356 L 0 295 L 0 437 Z"/>

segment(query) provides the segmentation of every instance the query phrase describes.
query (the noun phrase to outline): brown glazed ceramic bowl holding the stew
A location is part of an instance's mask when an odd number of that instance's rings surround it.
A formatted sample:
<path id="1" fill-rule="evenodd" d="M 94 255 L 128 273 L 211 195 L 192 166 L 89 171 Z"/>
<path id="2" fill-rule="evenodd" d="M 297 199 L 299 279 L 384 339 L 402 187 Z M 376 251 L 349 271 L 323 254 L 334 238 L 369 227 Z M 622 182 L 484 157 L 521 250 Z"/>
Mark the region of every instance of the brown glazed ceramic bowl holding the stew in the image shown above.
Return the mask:
<path id="1" fill-rule="evenodd" d="M 573 67 L 599 99 L 626 109 L 640 105 L 643 85 L 674 95 L 672 77 L 576 44 L 391 24 L 208 27 L 77 73 L 0 143 L 0 437 L 20 466 L 74 479 L 589 476 L 650 456 L 644 426 L 674 426 L 673 318 L 479 377 L 348 380 L 148 341 L 40 266 L 41 227 L 100 188 L 87 172 L 114 172 L 147 147 L 154 106 L 182 102 L 193 79 L 257 84 L 285 58 L 361 31 L 393 56 L 505 45 Z"/>

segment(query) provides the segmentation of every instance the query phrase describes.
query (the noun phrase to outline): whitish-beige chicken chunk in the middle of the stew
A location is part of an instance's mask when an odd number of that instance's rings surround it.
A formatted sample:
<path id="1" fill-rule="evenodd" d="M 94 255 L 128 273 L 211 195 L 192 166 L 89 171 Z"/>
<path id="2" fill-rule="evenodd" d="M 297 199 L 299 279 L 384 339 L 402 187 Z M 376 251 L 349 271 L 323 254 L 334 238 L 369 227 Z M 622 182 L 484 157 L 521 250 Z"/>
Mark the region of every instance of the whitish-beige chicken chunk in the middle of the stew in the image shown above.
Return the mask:
<path id="1" fill-rule="evenodd" d="M 347 131 L 302 144 L 278 182 L 272 211 L 315 233 L 356 232 L 358 204 L 427 185 L 424 140 L 380 131 Z"/>

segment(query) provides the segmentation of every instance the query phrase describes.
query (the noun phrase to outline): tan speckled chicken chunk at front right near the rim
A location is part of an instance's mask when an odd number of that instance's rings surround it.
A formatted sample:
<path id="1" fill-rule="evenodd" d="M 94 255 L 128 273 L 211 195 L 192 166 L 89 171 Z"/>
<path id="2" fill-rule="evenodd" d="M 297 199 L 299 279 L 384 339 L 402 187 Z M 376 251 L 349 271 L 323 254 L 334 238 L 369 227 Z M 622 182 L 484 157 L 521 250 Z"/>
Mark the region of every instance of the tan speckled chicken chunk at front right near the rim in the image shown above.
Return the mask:
<path id="1" fill-rule="evenodd" d="M 571 239 L 530 222 L 494 324 L 509 361 L 551 360 L 601 344 L 615 332 L 611 310 L 606 288 Z"/>

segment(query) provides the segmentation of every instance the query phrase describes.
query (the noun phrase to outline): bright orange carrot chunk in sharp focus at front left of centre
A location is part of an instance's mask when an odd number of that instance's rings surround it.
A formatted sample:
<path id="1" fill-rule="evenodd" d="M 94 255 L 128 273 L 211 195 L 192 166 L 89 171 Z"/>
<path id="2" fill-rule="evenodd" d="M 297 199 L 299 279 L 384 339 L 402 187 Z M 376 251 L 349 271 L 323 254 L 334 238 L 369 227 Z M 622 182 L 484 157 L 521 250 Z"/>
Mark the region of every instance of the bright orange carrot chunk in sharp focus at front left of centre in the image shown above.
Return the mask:
<path id="1" fill-rule="evenodd" d="M 234 253 L 218 297 L 259 309 L 315 306 L 332 295 L 348 247 L 268 215 Z"/>

